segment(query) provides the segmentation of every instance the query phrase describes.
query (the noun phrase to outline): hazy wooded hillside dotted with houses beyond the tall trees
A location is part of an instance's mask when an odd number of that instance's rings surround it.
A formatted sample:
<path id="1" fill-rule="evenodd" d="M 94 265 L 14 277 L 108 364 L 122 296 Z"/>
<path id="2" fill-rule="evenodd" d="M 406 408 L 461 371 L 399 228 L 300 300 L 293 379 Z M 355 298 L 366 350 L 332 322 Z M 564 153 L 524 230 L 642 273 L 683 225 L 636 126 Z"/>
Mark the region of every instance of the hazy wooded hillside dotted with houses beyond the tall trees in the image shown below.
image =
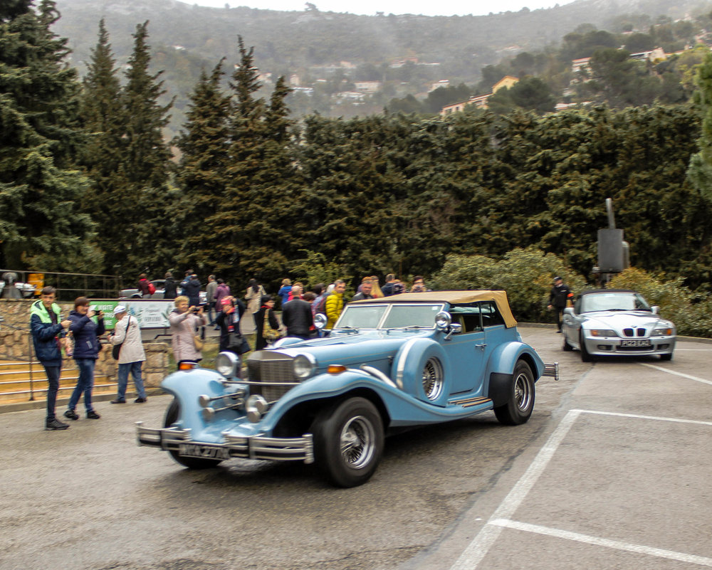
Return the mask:
<path id="1" fill-rule="evenodd" d="M 236 64 L 238 35 L 255 48 L 264 96 L 277 78 L 288 78 L 293 88 L 288 105 L 295 116 L 316 111 L 352 117 L 384 108 L 436 114 L 469 97 L 487 99 L 506 75 L 541 78 L 555 104 L 591 100 L 577 88 L 573 95 L 568 91 L 576 73 L 570 71 L 567 36 L 608 30 L 612 37 L 633 36 L 638 45 L 646 41 L 640 36 L 656 28 L 664 31 L 654 38 L 661 45 L 646 48 L 673 53 L 705 36 L 705 10 L 712 9 L 712 4 L 693 2 L 577 0 L 552 9 L 445 17 L 355 16 L 322 12 L 314 4 L 299 12 L 229 4 L 213 9 L 176 0 L 58 0 L 57 6 L 61 19 L 54 28 L 69 38 L 71 63 L 80 75 L 86 72 L 100 19 L 105 19 L 120 66 L 127 64 L 135 26 L 149 22 L 152 68 L 164 70 L 163 101 L 174 100 L 169 134 L 182 124 L 187 95 L 201 70 L 221 58 Z M 602 45 L 612 47 L 608 43 Z M 575 55 L 592 57 L 593 52 Z"/>

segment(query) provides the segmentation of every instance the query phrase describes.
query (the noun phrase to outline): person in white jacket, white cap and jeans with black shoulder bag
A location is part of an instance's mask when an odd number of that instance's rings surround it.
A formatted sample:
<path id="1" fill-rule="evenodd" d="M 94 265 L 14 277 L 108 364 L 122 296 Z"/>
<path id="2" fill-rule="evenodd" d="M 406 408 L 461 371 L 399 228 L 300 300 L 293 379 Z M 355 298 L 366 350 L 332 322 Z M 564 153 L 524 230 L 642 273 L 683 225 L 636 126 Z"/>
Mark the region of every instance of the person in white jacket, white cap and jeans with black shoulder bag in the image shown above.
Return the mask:
<path id="1" fill-rule="evenodd" d="M 138 320 L 133 315 L 128 315 L 124 305 L 116 305 L 114 307 L 114 317 L 116 318 L 116 327 L 114 334 L 109 337 L 111 344 L 120 344 L 119 350 L 119 371 L 118 371 L 118 391 L 116 399 L 111 403 L 126 403 L 126 386 L 129 382 L 129 373 L 133 376 L 134 384 L 138 398 L 135 403 L 143 403 L 146 401 L 146 391 L 143 387 L 143 379 L 141 377 L 141 367 L 146 359 L 146 353 L 143 350 L 143 342 L 141 342 L 141 328 L 138 326 Z"/>

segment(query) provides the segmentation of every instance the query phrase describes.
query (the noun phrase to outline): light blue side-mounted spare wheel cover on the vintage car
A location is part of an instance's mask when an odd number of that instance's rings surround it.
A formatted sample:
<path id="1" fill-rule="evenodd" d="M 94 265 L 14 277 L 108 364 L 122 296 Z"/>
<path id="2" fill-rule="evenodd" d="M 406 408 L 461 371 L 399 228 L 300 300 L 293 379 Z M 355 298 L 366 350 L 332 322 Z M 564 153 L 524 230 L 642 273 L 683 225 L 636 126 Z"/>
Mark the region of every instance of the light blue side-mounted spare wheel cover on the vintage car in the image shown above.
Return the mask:
<path id="1" fill-rule="evenodd" d="M 430 358 L 440 361 L 444 374 L 444 387 L 438 398 L 430 400 L 423 389 L 423 368 Z M 417 399 L 446 406 L 450 394 L 451 366 L 443 347 L 433 339 L 410 339 L 399 348 L 391 367 L 391 378 L 407 394 Z"/>

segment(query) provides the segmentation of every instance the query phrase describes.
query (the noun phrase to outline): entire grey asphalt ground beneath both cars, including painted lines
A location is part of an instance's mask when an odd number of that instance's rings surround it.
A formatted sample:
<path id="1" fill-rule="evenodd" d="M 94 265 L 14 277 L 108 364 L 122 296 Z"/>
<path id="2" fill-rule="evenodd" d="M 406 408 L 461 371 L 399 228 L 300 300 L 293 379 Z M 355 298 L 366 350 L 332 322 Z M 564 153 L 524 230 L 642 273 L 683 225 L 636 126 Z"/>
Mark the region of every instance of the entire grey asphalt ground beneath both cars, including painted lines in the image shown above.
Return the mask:
<path id="1" fill-rule="evenodd" d="M 135 444 L 169 396 L 102 403 L 42 429 L 0 414 L 0 569 L 493 570 L 712 566 L 712 344 L 673 361 L 583 363 L 522 327 L 561 379 L 531 420 L 493 414 L 389 438 L 366 485 L 311 465 L 232 460 L 190 471 Z"/>

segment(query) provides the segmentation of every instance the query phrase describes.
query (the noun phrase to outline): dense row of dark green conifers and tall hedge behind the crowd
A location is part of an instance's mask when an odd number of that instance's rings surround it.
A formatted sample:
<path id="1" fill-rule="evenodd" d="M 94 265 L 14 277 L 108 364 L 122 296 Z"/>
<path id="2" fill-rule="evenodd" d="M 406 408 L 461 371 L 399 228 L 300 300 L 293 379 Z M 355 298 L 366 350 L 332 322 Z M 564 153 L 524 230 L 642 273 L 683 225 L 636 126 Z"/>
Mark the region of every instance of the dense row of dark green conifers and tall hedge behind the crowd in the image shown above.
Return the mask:
<path id="1" fill-rule="evenodd" d="M 712 56 L 696 104 L 297 122 L 238 38 L 194 85 L 173 162 L 148 24 L 119 68 L 101 22 L 80 80 L 57 18 L 52 0 L 0 7 L 0 266 L 270 283 L 310 256 L 429 275 L 535 246 L 586 279 L 611 197 L 634 265 L 711 287 Z"/>

